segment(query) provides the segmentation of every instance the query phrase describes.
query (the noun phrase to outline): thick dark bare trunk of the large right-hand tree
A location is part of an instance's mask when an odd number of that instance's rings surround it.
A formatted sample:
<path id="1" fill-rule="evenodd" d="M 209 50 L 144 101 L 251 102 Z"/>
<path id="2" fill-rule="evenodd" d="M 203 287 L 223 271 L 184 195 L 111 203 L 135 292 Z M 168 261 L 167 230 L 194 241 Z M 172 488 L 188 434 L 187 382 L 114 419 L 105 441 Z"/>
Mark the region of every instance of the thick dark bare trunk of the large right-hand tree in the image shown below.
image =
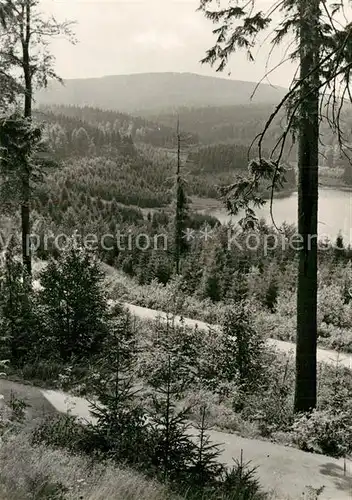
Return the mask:
<path id="1" fill-rule="evenodd" d="M 317 398 L 317 233 L 319 75 L 310 74 L 319 60 L 319 1 L 300 0 L 300 109 L 298 145 L 297 351 L 295 411 L 315 408 Z M 309 94 L 309 95 L 307 95 Z"/>

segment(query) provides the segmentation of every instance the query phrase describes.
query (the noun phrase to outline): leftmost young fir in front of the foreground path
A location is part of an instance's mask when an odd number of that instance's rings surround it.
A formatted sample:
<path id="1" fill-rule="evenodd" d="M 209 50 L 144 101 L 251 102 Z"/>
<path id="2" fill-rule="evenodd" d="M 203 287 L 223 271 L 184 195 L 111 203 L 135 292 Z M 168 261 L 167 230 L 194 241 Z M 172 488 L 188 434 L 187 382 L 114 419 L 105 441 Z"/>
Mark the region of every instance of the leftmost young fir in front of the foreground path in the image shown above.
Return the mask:
<path id="1" fill-rule="evenodd" d="M 98 353 L 96 373 L 90 391 L 96 419 L 89 427 L 90 448 L 95 453 L 131 465 L 147 463 L 148 429 L 145 413 L 138 403 L 134 363 L 137 341 L 131 315 L 119 306 L 111 311 L 109 335 Z"/>

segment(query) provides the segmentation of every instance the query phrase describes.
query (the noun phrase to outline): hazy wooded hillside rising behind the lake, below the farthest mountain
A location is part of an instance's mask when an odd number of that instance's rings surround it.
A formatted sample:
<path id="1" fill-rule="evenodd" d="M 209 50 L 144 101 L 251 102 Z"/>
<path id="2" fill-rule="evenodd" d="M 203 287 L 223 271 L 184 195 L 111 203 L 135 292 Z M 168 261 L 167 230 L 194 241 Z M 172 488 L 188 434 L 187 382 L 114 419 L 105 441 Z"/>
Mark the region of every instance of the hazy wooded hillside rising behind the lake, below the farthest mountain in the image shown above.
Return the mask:
<path id="1" fill-rule="evenodd" d="M 179 117 L 181 127 L 185 133 L 192 131 L 199 137 L 201 145 L 216 146 L 219 143 L 243 146 L 247 150 L 253 141 L 253 155 L 258 154 L 257 141 L 254 139 L 261 134 L 265 124 L 274 110 L 273 104 L 239 104 L 234 106 L 207 106 L 207 107 L 181 107 L 177 111 L 162 110 L 160 112 L 142 112 L 148 120 L 170 126 Z M 283 112 L 274 118 L 270 129 L 267 131 L 262 147 L 266 154 L 270 154 L 280 135 L 285 130 L 285 116 Z M 329 167 L 329 171 L 321 171 L 321 180 L 326 185 L 351 185 L 352 169 L 348 157 L 352 144 L 352 111 L 345 106 L 341 118 L 341 132 L 346 143 L 346 152 L 338 152 L 338 138 L 329 127 L 326 117 L 321 123 L 321 143 L 319 147 L 320 165 Z M 284 161 L 295 161 L 297 145 L 288 137 L 283 152 Z M 343 176 L 336 168 L 341 168 Z"/>

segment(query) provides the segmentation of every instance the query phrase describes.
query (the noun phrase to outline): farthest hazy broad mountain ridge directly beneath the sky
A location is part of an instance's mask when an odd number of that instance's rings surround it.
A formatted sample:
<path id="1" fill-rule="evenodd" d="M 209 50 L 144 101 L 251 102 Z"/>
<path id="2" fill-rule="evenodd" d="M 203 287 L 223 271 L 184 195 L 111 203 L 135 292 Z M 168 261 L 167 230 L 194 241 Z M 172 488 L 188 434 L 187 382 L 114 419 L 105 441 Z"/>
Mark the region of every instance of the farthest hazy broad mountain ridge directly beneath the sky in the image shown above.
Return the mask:
<path id="1" fill-rule="evenodd" d="M 140 73 L 65 80 L 39 92 L 39 104 L 93 106 L 139 112 L 179 106 L 222 106 L 249 103 L 255 82 L 202 76 L 193 73 Z M 254 103 L 277 103 L 282 87 L 259 85 Z"/>

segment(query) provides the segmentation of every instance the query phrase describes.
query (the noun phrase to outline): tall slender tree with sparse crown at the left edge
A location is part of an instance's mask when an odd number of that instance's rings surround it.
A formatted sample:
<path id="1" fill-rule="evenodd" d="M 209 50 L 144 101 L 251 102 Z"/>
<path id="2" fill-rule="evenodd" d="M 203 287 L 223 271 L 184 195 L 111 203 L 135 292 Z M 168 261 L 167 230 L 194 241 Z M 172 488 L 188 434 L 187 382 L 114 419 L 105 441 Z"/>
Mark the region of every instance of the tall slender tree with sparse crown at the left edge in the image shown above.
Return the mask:
<path id="1" fill-rule="evenodd" d="M 16 75 L 15 83 L 21 98 L 23 98 L 23 110 L 21 118 L 17 123 L 24 123 L 31 129 L 29 135 L 24 137 L 23 133 L 17 135 L 17 144 L 23 144 L 27 149 L 27 155 L 20 152 L 19 156 L 13 156 L 11 162 L 16 166 L 18 172 L 17 183 L 20 192 L 21 205 L 21 229 L 22 229 L 22 258 L 27 274 L 32 273 L 31 249 L 30 249 L 30 201 L 31 183 L 33 181 L 33 166 L 29 161 L 31 155 L 28 152 L 33 149 L 34 137 L 38 138 L 38 129 L 30 127 L 32 121 L 32 104 L 34 90 L 36 87 L 46 87 L 48 79 L 57 78 L 53 70 L 54 58 L 48 53 L 48 41 L 56 36 L 72 37 L 70 23 L 57 23 L 55 18 L 45 19 L 40 13 L 39 0 L 16 0 L 7 2 L 1 0 L 0 6 L 7 8 L 4 21 L 6 31 L 2 33 L 0 40 L 0 66 L 8 71 L 8 75 Z M 0 134 L 1 136 L 2 134 Z M 16 135 L 13 136 L 15 139 Z M 16 142 L 16 139 L 15 139 Z"/>

